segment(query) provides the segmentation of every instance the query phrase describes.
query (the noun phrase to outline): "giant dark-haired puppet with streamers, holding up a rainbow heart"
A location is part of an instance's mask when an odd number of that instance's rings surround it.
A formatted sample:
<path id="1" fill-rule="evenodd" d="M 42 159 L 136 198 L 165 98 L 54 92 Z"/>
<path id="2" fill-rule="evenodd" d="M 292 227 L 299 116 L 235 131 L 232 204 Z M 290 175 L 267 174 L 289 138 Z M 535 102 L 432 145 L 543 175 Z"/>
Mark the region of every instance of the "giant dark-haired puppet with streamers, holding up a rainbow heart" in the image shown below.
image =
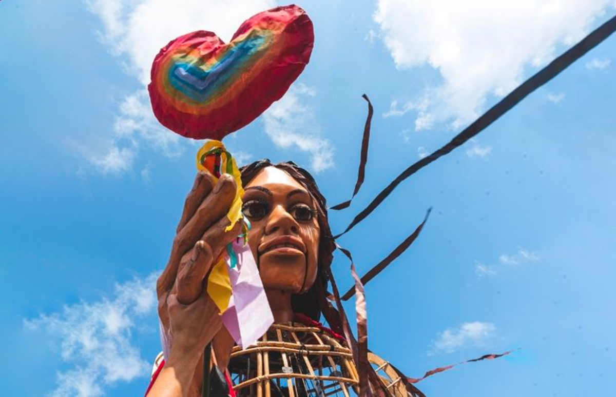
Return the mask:
<path id="1" fill-rule="evenodd" d="M 452 142 L 408 167 L 342 234 L 403 180 L 478 134 L 615 30 L 616 17 Z M 453 367 L 413 379 L 367 346 L 363 284 L 415 241 L 428 215 L 361 279 L 351 264 L 355 286 L 342 299 L 356 295 L 355 339 L 330 267 L 334 249 L 349 259 L 351 252 L 336 244 L 340 235 L 330 231 L 314 178 L 293 162 L 262 160 L 238 168 L 221 142 L 285 94 L 309 62 L 313 42 L 312 22 L 292 5 L 249 18 L 228 44 L 208 31 L 180 36 L 153 62 L 148 89 L 156 118 L 177 134 L 208 141 L 197 153 L 195 184 L 156 286 L 163 353 L 147 396 L 423 396 L 413 383 Z M 367 162 L 368 106 L 353 197 Z"/>

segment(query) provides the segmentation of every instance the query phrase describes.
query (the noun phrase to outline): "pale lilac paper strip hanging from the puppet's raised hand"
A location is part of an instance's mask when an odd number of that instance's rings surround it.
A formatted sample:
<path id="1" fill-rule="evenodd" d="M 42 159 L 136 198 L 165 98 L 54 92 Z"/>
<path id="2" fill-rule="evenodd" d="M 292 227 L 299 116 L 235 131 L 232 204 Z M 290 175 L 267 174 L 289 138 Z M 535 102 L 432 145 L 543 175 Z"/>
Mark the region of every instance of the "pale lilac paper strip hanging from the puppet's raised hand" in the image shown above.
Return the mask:
<path id="1" fill-rule="evenodd" d="M 248 244 L 233 243 L 237 266 L 229 268 L 233 296 L 222 322 L 243 348 L 253 345 L 274 324 L 261 276 Z"/>

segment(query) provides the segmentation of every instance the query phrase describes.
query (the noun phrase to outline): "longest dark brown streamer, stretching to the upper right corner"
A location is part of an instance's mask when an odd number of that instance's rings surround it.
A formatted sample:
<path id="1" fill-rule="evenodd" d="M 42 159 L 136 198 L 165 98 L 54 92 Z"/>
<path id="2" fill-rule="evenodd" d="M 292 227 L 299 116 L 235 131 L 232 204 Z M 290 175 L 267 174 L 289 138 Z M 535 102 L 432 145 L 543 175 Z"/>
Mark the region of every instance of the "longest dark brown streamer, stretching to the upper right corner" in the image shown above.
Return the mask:
<path id="1" fill-rule="evenodd" d="M 588 36 L 583 38 L 582 41 L 578 42 L 578 44 L 575 44 L 575 46 L 571 47 L 569 50 L 565 51 L 562 55 L 549 63 L 548 66 L 545 66 L 545 68 L 535 73 L 520 86 L 517 86 L 516 89 L 511 91 L 505 98 L 496 103 L 496 105 L 492 106 L 492 108 L 482 114 L 482 116 L 476 119 L 476 121 L 472 122 L 472 124 L 466 127 L 466 129 L 460 132 L 460 134 L 456 135 L 451 142 L 447 143 L 447 145 L 430 154 L 428 157 L 420 159 L 415 162 L 415 164 L 405 169 L 402 174 L 398 175 L 398 177 L 389 183 L 389 185 L 387 185 L 387 187 L 384 188 L 381 193 L 379 193 L 376 198 L 373 199 L 373 201 L 353 219 L 349 226 L 347 226 L 346 230 L 339 235 L 334 236 L 334 238 L 339 238 L 344 235 L 347 231 L 355 227 L 357 223 L 361 222 L 365 219 L 365 217 L 370 215 L 370 213 L 374 211 L 375 208 L 378 207 L 387 196 L 389 196 L 394 188 L 403 182 L 403 180 L 415 174 L 415 172 L 427 166 L 432 161 L 435 161 L 445 154 L 450 153 L 450 151 L 454 150 L 458 146 L 461 146 L 464 142 L 479 134 L 479 132 L 482 132 L 482 130 L 490 126 L 490 124 L 495 122 L 507 111 L 511 110 L 511 108 L 517 105 L 517 103 L 519 103 L 522 99 L 527 97 L 539 87 L 543 86 L 546 82 L 556 77 L 557 74 L 565 70 L 567 66 L 571 65 L 573 62 L 578 60 L 578 58 L 582 57 L 582 55 L 586 54 L 586 52 L 590 51 L 599 43 L 607 39 L 612 33 L 614 33 L 614 31 L 616 31 L 616 17 L 612 17 L 606 23 L 596 28 L 596 30 L 588 34 Z"/>

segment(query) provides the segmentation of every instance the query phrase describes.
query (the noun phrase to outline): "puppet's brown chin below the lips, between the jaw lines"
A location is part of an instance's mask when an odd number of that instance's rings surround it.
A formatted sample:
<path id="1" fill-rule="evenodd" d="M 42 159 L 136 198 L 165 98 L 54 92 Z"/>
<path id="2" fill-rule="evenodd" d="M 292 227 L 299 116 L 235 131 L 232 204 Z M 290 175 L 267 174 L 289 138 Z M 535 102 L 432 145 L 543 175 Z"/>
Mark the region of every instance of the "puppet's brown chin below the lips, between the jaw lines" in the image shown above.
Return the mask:
<path id="1" fill-rule="evenodd" d="M 267 252 L 259 257 L 259 272 L 265 289 L 297 293 L 306 277 L 306 255 Z"/>

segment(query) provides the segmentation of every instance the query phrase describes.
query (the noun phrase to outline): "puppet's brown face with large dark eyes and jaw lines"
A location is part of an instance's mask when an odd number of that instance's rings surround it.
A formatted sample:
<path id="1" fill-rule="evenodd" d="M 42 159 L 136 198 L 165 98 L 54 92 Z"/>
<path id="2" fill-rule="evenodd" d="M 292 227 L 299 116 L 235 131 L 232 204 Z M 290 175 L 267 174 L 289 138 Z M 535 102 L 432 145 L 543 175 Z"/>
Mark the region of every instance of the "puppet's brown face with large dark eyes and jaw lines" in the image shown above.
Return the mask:
<path id="1" fill-rule="evenodd" d="M 304 292 L 317 277 L 320 228 L 312 196 L 293 177 L 265 167 L 245 186 L 248 244 L 265 289 Z"/>

